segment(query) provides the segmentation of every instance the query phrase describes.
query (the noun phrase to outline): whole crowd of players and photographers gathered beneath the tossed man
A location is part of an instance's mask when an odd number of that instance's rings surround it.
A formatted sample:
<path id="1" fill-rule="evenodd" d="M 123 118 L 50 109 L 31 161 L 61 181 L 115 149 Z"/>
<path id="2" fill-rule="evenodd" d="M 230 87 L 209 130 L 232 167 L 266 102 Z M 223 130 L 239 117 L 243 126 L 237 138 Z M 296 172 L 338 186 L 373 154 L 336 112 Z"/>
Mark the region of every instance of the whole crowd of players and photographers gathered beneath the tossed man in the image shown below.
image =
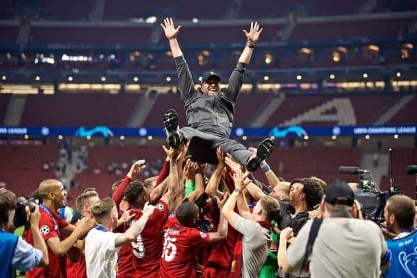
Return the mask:
<path id="1" fill-rule="evenodd" d="M 187 156 L 187 145 L 163 148 L 167 156 L 157 176 L 139 181 L 145 169 L 140 160 L 124 179 L 108 185 L 111 198 L 85 189 L 76 198 L 74 224 L 57 213 L 65 205 L 63 185 L 42 181 L 40 205 L 26 211 L 24 240 L 8 233 L 16 199 L 0 189 L 0 261 L 10 265 L 1 268 L 0 277 L 13 277 L 15 270 L 31 278 L 417 273 L 416 208 L 409 197 L 389 199 L 381 228 L 363 219 L 361 204 L 342 181 L 286 182 L 263 161 L 269 183 L 264 185 L 220 148 L 218 165 L 205 177 L 205 165 Z"/>

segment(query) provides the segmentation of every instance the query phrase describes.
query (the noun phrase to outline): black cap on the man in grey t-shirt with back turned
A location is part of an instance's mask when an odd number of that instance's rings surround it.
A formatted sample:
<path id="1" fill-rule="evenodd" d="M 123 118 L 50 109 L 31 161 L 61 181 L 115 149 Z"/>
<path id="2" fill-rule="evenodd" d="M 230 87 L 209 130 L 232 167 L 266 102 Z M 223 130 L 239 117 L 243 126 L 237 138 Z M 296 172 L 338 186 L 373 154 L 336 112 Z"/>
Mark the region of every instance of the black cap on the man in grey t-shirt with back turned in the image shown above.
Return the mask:
<path id="1" fill-rule="evenodd" d="M 341 204 L 353 206 L 354 193 L 345 181 L 334 181 L 327 186 L 325 202 L 328 204 Z"/>

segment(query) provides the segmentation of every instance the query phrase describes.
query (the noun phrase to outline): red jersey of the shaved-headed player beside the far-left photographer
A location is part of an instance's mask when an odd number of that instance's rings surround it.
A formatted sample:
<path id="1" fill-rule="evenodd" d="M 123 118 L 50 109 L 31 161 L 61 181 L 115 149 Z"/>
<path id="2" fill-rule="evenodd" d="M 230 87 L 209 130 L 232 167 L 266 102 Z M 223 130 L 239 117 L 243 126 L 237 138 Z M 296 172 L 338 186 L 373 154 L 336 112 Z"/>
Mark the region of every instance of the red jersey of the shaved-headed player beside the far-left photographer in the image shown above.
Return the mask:
<path id="1" fill-rule="evenodd" d="M 59 237 L 60 240 L 63 240 L 62 233 L 59 233 L 60 229 L 63 229 L 68 226 L 68 223 L 62 220 L 58 214 L 51 212 L 51 215 L 44 211 L 42 208 L 40 211 L 40 221 L 39 229 L 42 238 L 47 242 L 49 238 Z M 55 221 L 54 221 L 55 220 Z M 31 229 L 28 229 L 24 233 L 24 238 L 26 242 L 33 246 L 33 235 Z M 48 247 L 49 254 L 49 265 L 46 268 L 33 268 L 33 270 L 26 272 L 26 278 L 61 278 L 65 277 L 65 273 L 62 273 L 60 269 L 65 269 L 65 260 L 60 260 L 58 256 L 52 252 Z M 61 266 L 60 263 L 63 263 Z"/>

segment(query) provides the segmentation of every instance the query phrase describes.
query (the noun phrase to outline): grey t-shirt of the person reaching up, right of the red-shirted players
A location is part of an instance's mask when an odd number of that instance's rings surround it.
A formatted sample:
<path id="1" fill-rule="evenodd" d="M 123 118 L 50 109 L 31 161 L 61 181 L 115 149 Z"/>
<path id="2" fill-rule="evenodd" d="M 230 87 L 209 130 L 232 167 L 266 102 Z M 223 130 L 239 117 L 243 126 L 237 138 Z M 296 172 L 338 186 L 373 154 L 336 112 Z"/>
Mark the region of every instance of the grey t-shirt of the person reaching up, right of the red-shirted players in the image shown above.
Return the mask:
<path id="1" fill-rule="evenodd" d="M 243 234 L 242 277 L 259 277 L 272 242 L 271 234 L 261 224 L 239 217 L 236 231 Z"/>

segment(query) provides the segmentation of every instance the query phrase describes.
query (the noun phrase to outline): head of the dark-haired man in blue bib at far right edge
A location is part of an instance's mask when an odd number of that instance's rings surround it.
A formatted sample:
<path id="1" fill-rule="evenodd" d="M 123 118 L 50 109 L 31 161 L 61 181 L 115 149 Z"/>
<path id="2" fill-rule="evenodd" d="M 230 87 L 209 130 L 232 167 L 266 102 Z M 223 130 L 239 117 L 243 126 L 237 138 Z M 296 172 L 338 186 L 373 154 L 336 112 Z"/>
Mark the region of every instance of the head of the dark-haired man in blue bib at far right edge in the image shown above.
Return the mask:
<path id="1" fill-rule="evenodd" d="M 413 199 L 405 195 L 391 196 L 386 202 L 386 211 L 389 215 L 395 215 L 395 222 L 401 229 L 407 229 L 414 226 L 414 216 L 416 208 Z"/>

